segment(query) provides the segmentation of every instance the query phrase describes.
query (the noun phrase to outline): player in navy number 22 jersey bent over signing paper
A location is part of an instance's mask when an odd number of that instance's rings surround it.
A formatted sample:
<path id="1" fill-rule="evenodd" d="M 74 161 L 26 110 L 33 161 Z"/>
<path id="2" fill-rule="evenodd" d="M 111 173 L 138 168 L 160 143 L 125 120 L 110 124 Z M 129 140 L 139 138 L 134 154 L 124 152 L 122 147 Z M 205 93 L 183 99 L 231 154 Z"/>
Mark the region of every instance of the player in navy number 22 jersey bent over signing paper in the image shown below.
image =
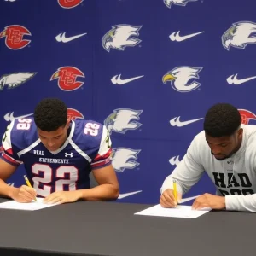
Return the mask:
<path id="1" fill-rule="evenodd" d="M 2 144 L 0 195 L 18 202 L 44 197 L 45 203 L 108 201 L 119 196 L 106 127 L 67 119 L 67 106 L 58 99 L 39 102 L 33 119 L 12 121 Z M 33 188 L 4 182 L 22 162 Z M 90 188 L 90 172 L 99 184 L 95 188 Z"/>

